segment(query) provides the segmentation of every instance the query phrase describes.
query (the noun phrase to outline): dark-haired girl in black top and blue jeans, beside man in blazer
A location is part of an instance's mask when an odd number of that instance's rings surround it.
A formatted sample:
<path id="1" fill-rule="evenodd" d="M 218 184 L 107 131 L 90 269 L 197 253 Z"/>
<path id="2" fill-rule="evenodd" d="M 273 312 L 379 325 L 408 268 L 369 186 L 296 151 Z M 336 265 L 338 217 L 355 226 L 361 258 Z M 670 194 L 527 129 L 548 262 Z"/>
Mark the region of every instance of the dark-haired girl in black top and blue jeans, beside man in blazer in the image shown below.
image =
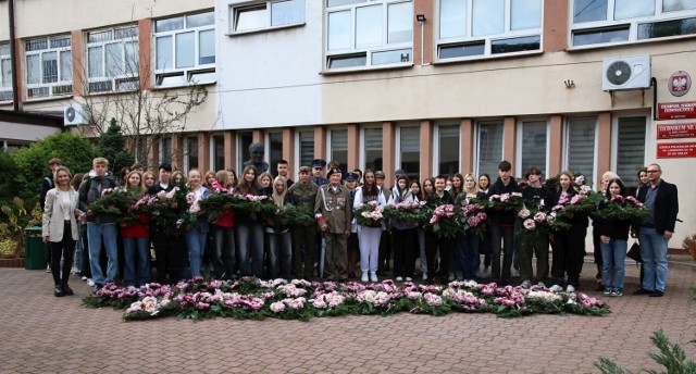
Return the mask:
<path id="1" fill-rule="evenodd" d="M 608 183 L 607 198 L 614 196 L 626 197 L 629 194 L 621 179 L 612 179 Z M 607 203 L 599 205 L 599 209 L 606 207 Z M 629 248 L 629 229 L 631 221 L 629 220 L 594 220 L 595 228 L 599 235 L 601 246 L 601 263 L 605 276 L 605 295 L 622 296 L 623 295 L 623 276 L 624 262 L 626 259 L 626 250 Z M 616 269 L 616 277 L 611 276 L 611 267 Z"/>

